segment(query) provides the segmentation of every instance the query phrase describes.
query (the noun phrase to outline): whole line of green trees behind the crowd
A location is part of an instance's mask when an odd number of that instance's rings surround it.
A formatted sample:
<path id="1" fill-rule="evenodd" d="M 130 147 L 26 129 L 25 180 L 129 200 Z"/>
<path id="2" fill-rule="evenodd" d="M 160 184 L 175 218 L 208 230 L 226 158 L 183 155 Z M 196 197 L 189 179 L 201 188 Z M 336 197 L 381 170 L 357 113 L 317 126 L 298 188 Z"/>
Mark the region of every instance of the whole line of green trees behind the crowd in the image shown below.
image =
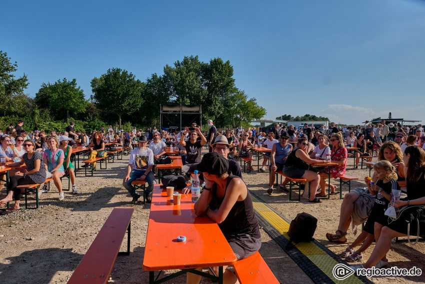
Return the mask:
<path id="1" fill-rule="evenodd" d="M 18 119 L 25 129 L 63 130 L 70 120 L 76 129 L 106 125 L 124 128 L 159 126 L 161 104 L 202 105 L 203 121 L 217 127 L 246 126 L 266 114 L 255 98 L 248 99 L 235 86 L 233 67 L 220 58 L 204 63 L 197 56 L 184 57 L 163 74 L 142 82 L 127 70 L 111 68 L 91 80 L 92 95 L 86 99 L 75 79 L 42 83 L 34 98 L 24 93 L 25 74 L 15 78 L 17 63 L 0 51 L 0 127 Z M 123 123 L 125 122 L 125 123 Z"/>

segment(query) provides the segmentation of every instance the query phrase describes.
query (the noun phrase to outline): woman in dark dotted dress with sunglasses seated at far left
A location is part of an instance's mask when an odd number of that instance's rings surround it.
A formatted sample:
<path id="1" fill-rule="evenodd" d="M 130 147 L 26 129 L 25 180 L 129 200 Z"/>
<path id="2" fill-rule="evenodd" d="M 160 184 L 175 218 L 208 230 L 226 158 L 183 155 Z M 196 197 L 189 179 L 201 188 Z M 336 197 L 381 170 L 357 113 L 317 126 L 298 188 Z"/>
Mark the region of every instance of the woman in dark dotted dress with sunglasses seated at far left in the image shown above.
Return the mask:
<path id="1" fill-rule="evenodd" d="M 0 200 L 0 204 L 5 205 L 7 202 L 13 200 L 14 195 L 15 202 L 12 207 L 6 209 L 8 212 L 13 212 L 19 210 L 20 208 L 19 201 L 21 191 L 20 188 L 17 188 L 18 185 L 43 183 L 46 178 L 46 171 L 42 165 L 43 158 L 40 152 L 34 150 L 34 142 L 31 140 L 26 140 L 22 147 L 25 149 L 25 153 L 22 155 L 22 159 L 20 162 L 10 164 L 10 166 L 18 166 L 25 163 L 27 171 L 25 173 L 18 172 L 14 176 L 10 177 L 9 191 L 6 197 Z"/>

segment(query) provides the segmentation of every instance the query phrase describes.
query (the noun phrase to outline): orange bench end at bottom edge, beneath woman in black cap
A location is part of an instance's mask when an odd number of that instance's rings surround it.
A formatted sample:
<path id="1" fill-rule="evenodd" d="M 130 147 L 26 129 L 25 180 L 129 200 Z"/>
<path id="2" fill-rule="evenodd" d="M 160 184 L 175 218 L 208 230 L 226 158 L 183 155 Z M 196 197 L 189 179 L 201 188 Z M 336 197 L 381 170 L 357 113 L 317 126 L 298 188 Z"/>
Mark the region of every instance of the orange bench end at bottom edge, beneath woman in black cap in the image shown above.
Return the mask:
<path id="1" fill-rule="evenodd" d="M 251 256 L 237 260 L 233 264 L 233 270 L 241 284 L 279 283 L 258 251 Z"/>

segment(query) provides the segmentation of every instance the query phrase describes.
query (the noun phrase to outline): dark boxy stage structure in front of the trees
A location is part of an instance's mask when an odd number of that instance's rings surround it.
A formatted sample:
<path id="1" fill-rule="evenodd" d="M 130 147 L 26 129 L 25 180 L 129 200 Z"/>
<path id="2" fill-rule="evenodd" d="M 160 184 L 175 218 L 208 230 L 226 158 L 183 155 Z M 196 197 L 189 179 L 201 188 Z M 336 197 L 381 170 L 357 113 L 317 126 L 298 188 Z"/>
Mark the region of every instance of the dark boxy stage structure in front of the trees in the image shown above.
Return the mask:
<path id="1" fill-rule="evenodd" d="M 181 131 L 184 127 L 190 126 L 193 122 L 202 125 L 202 110 L 200 105 L 159 105 L 161 110 L 161 128 L 167 131 Z"/>

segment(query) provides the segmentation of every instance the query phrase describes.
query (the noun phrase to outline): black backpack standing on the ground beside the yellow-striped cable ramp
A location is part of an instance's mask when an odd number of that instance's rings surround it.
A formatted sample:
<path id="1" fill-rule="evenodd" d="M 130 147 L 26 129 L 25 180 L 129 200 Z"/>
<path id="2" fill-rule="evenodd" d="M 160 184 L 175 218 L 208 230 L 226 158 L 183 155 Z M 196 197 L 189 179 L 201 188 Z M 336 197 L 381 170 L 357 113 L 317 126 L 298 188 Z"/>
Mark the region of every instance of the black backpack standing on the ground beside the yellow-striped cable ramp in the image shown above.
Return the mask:
<path id="1" fill-rule="evenodd" d="M 290 237 L 286 249 L 290 247 L 292 241 L 295 243 L 301 241 L 310 241 L 313 238 L 314 232 L 317 228 L 317 219 L 305 212 L 298 213 L 290 222 L 288 236 Z"/>

